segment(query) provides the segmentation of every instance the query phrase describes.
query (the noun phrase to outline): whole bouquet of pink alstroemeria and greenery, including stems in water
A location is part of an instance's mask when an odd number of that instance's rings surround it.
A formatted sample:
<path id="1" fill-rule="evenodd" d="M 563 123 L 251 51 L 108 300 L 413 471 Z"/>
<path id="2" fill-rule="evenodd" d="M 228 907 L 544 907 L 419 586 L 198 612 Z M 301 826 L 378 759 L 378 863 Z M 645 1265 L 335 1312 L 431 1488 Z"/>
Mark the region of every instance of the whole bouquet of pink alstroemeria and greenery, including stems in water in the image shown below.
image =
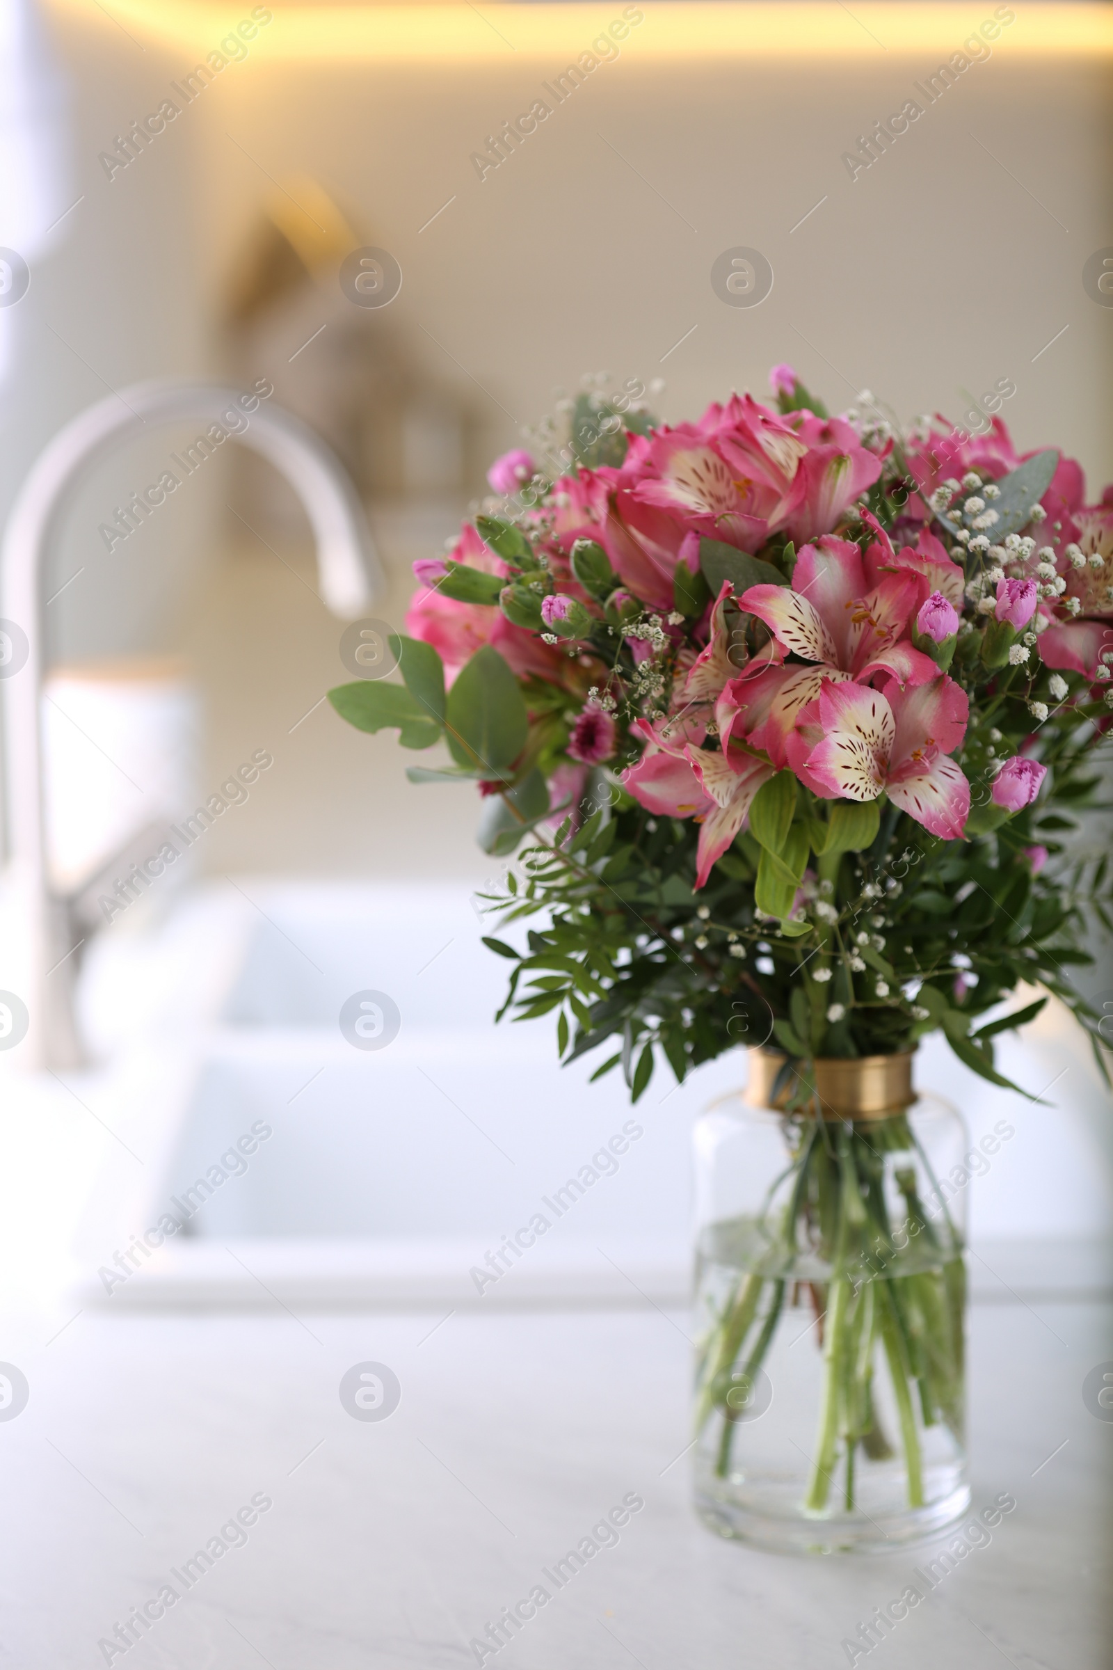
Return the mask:
<path id="1" fill-rule="evenodd" d="M 836 1511 L 843 1463 L 853 1513 L 864 1456 L 938 1525 L 961 1511 L 961 1234 L 913 1119 L 831 1124 L 818 1064 L 941 1029 L 1016 1089 L 995 1039 L 1053 992 L 1105 1072 L 1068 970 L 1090 917 L 1113 929 L 1108 862 L 1063 837 L 1113 725 L 1113 489 L 1086 504 L 1080 466 L 1020 456 L 1000 418 L 903 429 L 868 394 L 829 416 L 788 366 L 771 384 L 776 409 L 734 394 L 674 428 L 629 386 L 562 402 L 415 564 L 402 681 L 330 698 L 447 743 L 409 777 L 474 782 L 487 852 L 527 842 L 486 895 L 536 924 L 486 940 L 514 964 L 501 1014 L 556 1012 L 566 1062 L 611 1044 L 594 1077 L 621 1064 L 634 1099 L 657 1057 L 681 1080 L 781 1052 L 786 1164 L 701 1247 L 709 1518 L 731 1488 L 744 1506 L 736 1421 L 803 1294 L 823 1356 L 799 1513 Z M 1045 995 L 985 1019 L 1020 985 Z"/>

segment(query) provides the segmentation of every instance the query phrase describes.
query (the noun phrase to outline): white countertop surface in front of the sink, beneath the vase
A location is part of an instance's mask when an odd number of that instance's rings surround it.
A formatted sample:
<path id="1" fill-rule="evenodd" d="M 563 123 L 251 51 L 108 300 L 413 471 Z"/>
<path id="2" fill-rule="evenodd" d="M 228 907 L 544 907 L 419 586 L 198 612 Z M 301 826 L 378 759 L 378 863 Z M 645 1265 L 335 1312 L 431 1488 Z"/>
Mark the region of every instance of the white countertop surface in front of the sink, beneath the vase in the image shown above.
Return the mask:
<path id="1" fill-rule="evenodd" d="M 843 1638 L 899 1597 L 923 1555 L 799 1560 L 703 1530 L 679 1455 L 686 1328 L 684 1311 L 651 1306 L 441 1321 L 299 1319 L 275 1304 L 10 1324 L 0 1356 L 23 1369 L 30 1401 L 0 1423 L 0 1665 L 105 1663 L 98 1640 L 262 1493 L 274 1505 L 245 1545 L 112 1663 L 456 1670 L 476 1663 L 469 1638 L 629 1491 L 646 1506 L 617 1546 L 554 1593 L 499 1667 L 846 1665 Z M 1106 1663 L 1113 1423 L 1081 1401 L 1106 1358 L 1101 1301 L 975 1306 L 973 1506 L 1000 1491 L 1018 1506 L 871 1662 Z M 340 1376 L 362 1361 L 399 1376 L 389 1420 L 340 1406 Z"/>

